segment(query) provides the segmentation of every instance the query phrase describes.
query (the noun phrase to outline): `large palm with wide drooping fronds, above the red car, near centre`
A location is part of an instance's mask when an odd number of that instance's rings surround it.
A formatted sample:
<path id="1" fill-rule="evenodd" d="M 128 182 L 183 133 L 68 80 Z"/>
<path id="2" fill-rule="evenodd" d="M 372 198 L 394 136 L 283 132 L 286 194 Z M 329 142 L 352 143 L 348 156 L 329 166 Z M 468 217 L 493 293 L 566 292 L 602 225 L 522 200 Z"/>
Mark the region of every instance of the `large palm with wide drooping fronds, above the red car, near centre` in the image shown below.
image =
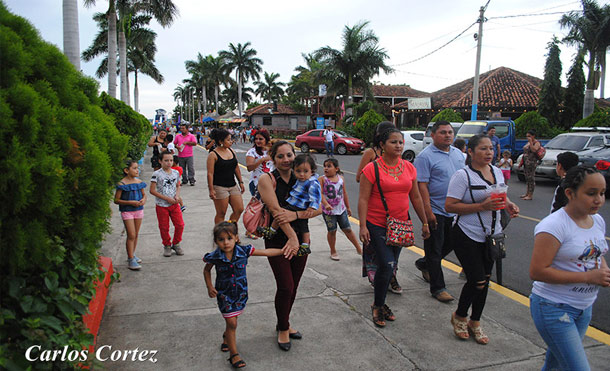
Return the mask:
<path id="1" fill-rule="evenodd" d="M 343 29 L 343 50 L 325 46 L 315 51 L 314 55 L 326 67 L 342 77 L 347 83 L 347 114 L 352 114 L 353 87 L 357 80 L 368 81 L 382 70 L 393 71 L 385 64 L 388 55 L 379 47 L 379 39 L 372 30 L 365 30 L 369 22 L 360 22 L 354 27 Z"/>

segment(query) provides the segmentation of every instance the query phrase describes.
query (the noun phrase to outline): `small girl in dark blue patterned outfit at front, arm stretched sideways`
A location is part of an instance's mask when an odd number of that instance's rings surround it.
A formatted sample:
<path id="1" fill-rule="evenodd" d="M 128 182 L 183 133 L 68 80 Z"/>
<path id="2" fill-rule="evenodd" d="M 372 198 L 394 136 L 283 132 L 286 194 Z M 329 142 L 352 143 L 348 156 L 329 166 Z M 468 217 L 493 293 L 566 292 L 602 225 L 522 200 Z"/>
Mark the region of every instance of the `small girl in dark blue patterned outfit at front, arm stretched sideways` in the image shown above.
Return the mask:
<path id="1" fill-rule="evenodd" d="M 216 298 L 218 309 L 225 319 L 226 329 L 222 335 L 220 350 L 230 351 L 228 361 L 234 368 L 242 368 L 246 363 L 237 353 L 235 331 L 237 316 L 242 314 L 248 301 L 248 280 L 246 265 L 248 258 L 255 256 L 279 256 L 281 249 L 255 250 L 252 245 L 239 245 L 239 233 L 236 223 L 220 222 L 214 227 L 216 249 L 205 254 L 203 277 L 208 295 Z M 216 284 L 212 285 L 212 267 L 216 267 Z"/>

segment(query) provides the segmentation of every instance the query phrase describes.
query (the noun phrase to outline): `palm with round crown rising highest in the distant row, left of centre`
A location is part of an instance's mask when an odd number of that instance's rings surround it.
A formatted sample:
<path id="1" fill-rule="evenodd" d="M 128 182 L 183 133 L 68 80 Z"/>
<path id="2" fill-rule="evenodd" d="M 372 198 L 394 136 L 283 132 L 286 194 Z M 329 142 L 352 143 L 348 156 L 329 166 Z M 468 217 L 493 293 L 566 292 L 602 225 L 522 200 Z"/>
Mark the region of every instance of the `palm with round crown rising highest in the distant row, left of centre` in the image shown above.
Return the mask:
<path id="1" fill-rule="evenodd" d="M 261 65 L 263 61 L 255 57 L 256 50 L 250 48 L 248 41 L 244 45 L 238 43 L 237 46 L 233 43 L 229 44 L 229 50 L 223 50 L 219 53 L 220 58 L 224 60 L 226 71 L 231 73 L 235 70 L 235 80 L 237 81 L 237 97 L 238 111 L 241 117 L 242 111 L 242 89 L 243 85 L 250 79 L 259 79 L 259 72 L 262 71 Z"/>

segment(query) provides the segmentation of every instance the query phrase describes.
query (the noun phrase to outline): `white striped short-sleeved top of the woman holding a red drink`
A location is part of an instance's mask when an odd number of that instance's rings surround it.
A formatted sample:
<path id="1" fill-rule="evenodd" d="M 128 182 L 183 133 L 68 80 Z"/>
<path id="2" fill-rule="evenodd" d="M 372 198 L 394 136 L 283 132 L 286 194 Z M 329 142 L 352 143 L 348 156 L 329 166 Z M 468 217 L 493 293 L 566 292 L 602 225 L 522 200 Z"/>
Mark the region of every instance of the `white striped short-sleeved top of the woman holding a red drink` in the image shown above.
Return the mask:
<path id="1" fill-rule="evenodd" d="M 492 166 L 494 175 L 496 177 L 497 184 L 504 184 L 504 176 L 502 171 L 495 166 Z M 470 183 L 472 185 L 472 195 L 474 196 L 474 202 L 470 197 L 470 191 L 468 190 L 468 177 L 466 171 L 470 175 Z M 456 198 L 461 200 L 465 204 L 479 203 L 484 201 L 491 195 L 491 184 L 489 184 L 483 176 L 478 172 L 466 166 L 453 174 L 449 181 L 449 188 L 447 190 L 447 197 Z M 477 213 L 460 215 L 458 219 L 458 225 L 471 240 L 477 242 L 485 242 L 485 236 L 491 234 L 491 222 L 493 211 L 479 211 L 485 231 L 481 227 L 481 222 Z M 497 211 L 496 215 L 496 227 L 494 233 L 502 232 L 502 225 L 500 225 L 500 212 Z"/>

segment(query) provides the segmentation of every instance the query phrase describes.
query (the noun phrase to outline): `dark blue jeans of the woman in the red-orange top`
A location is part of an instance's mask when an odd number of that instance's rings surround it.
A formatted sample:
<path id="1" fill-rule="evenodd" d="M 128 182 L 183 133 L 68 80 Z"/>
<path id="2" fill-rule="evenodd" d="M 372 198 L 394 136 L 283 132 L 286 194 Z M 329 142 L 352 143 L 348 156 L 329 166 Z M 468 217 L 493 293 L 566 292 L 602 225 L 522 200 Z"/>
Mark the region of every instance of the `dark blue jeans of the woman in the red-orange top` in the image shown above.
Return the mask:
<path id="1" fill-rule="evenodd" d="M 388 246 L 385 243 L 386 229 L 366 222 L 366 228 L 371 236 L 371 246 L 375 249 L 375 306 L 380 307 L 385 304 L 385 297 L 388 293 L 388 285 L 398 265 L 401 247 Z"/>

